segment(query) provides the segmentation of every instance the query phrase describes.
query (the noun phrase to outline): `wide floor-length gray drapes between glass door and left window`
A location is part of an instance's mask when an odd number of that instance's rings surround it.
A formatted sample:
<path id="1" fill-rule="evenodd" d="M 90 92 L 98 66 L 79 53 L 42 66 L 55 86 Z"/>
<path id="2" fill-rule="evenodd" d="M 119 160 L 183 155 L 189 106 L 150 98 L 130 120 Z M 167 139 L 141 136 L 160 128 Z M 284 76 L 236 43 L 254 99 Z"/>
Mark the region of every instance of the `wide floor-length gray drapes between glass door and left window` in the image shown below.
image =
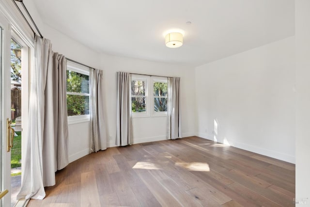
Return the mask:
<path id="1" fill-rule="evenodd" d="M 26 153 L 20 198 L 43 199 L 55 185 L 55 171 L 68 164 L 68 124 L 64 56 L 52 52 L 48 39 L 35 37 Z"/>

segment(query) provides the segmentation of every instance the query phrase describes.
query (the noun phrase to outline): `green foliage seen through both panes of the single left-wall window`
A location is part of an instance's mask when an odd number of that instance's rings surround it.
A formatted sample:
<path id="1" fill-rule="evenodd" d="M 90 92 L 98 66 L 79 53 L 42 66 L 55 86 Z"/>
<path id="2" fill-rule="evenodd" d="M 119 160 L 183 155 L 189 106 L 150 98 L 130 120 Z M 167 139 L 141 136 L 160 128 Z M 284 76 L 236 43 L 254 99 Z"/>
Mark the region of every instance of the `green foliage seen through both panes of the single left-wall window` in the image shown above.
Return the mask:
<path id="1" fill-rule="evenodd" d="M 89 94 L 89 76 L 66 71 L 67 92 Z M 89 114 L 89 96 L 67 95 L 68 116 Z"/>

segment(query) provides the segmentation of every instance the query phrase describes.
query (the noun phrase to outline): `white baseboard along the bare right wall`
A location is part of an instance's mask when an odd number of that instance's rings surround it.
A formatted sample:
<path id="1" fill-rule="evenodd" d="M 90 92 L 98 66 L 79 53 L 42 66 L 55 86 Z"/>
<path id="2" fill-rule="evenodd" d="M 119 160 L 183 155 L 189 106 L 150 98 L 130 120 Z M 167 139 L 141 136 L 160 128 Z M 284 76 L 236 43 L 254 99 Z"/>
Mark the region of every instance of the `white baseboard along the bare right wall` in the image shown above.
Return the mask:
<path id="1" fill-rule="evenodd" d="M 213 138 L 211 138 L 209 135 L 207 135 L 205 133 L 197 133 L 197 134 L 198 134 L 198 137 L 214 141 Z M 295 157 L 292 155 L 287 155 L 287 154 L 284 154 L 281 152 L 277 152 L 277 151 L 273 151 L 273 150 L 269 150 L 269 149 L 264 149 L 264 148 L 253 146 L 253 145 L 246 144 L 246 143 L 234 142 L 232 140 L 227 140 L 227 141 L 233 147 L 244 149 L 244 150 L 247 150 L 250 152 L 254 152 L 254 153 L 257 153 L 260 155 L 270 157 L 270 158 L 280 159 L 280 160 L 295 164 Z M 220 143 L 220 142 L 218 142 L 218 143 Z"/>

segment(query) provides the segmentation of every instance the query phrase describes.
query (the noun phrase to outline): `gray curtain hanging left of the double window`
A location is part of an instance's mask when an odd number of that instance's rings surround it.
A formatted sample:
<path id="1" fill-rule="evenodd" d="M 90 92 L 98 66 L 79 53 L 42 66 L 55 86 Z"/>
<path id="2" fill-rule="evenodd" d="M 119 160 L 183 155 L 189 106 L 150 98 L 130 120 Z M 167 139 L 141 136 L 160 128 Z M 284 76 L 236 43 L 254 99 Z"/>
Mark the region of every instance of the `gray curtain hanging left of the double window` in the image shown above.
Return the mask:
<path id="1" fill-rule="evenodd" d="M 118 72 L 117 83 L 117 139 L 115 144 L 125 146 L 132 144 L 130 73 Z"/>

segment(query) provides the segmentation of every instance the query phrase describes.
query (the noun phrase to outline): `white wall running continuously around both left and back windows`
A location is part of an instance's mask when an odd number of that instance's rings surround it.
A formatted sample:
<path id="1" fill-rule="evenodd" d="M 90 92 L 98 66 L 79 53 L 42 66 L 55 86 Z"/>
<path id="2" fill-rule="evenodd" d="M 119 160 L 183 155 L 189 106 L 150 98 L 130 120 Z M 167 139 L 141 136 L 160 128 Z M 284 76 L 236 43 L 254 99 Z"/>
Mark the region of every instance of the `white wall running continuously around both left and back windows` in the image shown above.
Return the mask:
<path id="1" fill-rule="evenodd" d="M 108 147 L 115 146 L 116 139 L 117 71 L 181 77 L 183 137 L 195 135 L 194 68 L 178 64 L 157 63 L 99 54 L 47 25 L 44 25 L 42 31 L 44 36 L 51 40 L 53 51 L 104 71 L 107 130 L 108 135 L 112 137 L 112 140 L 108 140 Z M 134 143 L 165 140 L 167 138 L 166 126 L 166 117 L 134 118 Z M 69 125 L 70 162 L 89 153 L 89 135 L 89 122 Z"/>

